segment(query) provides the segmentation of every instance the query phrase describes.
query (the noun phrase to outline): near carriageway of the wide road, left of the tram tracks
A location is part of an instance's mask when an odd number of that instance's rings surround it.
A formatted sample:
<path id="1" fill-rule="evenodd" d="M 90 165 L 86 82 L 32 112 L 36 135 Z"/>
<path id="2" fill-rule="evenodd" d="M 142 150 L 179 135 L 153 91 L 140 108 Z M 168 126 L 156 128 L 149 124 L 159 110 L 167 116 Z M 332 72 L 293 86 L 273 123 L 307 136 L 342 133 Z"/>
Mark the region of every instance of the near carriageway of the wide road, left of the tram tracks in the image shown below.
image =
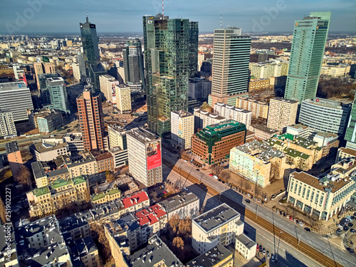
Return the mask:
<path id="1" fill-rule="evenodd" d="M 188 181 L 187 179 L 180 177 L 177 172 L 172 172 L 172 169 L 165 164 L 163 164 L 163 177 L 169 179 L 169 181 L 173 183 L 181 179 L 183 190 L 184 187 L 187 187 L 188 192 L 193 192 L 201 200 L 200 206 L 203 207 L 202 211 L 208 211 L 209 209 L 213 209 L 215 206 L 219 206 L 219 204 L 221 203 L 221 201 L 219 201 L 219 197 L 212 197 L 211 194 L 206 192 L 204 186 L 192 184 L 192 182 Z M 247 234 L 251 239 L 253 239 L 253 241 L 256 241 L 258 245 L 261 244 L 264 248 L 266 248 L 266 251 L 270 251 L 270 253 L 273 254 L 276 254 L 276 252 L 278 252 L 279 266 L 321 266 L 319 263 L 313 261 L 313 259 L 306 257 L 305 255 L 300 253 L 298 249 L 286 244 L 283 240 L 279 241 L 278 236 L 276 236 L 275 239 L 273 237 L 273 234 L 268 231 L 265 231 L 260 226 L 253 224 L 253 222 L 248 219 L 245 219 L 244 230 L 247 231 L 247 233 L 245 234 Z M 271 263 L 271 266 L 275 266 L 274 263 Z"/>

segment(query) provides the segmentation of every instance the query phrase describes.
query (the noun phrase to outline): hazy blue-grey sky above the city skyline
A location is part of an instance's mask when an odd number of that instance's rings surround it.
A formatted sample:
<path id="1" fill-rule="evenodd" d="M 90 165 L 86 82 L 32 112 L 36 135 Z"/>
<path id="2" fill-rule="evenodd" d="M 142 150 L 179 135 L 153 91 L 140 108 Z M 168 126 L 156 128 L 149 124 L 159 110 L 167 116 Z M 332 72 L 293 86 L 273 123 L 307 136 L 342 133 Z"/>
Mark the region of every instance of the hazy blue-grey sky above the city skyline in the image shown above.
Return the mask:
<path id="1" fill-rule="evenodd" d="M 142 33 L 142 16 L 162 11 L 160 0 L 2 0 L 0 34 L 75 33 L 89 21 L 100 33 Z M 355 0 L 165 0 L 170 19 L 199 21 L 201 33 L 239 26 L 245 33 L 292 32 L 313 11 L 332 11 L 330 32 L 355 33 Z"/>

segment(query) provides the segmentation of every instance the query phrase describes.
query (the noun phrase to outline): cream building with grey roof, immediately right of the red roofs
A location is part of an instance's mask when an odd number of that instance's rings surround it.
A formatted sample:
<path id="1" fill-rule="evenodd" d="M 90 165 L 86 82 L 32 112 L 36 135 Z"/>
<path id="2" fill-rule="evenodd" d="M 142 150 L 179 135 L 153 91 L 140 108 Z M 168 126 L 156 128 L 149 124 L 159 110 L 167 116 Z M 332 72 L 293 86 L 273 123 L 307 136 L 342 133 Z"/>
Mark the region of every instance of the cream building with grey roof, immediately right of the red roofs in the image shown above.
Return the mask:
<path id="1" fill-rule="evenodd" d="M 167 212 L 168 221 L 178 214 L 179 219 L 194 218 L 199 213 L 199 198 L 192 192 L 179 192 L 159 201 L 159 206 Z"/>

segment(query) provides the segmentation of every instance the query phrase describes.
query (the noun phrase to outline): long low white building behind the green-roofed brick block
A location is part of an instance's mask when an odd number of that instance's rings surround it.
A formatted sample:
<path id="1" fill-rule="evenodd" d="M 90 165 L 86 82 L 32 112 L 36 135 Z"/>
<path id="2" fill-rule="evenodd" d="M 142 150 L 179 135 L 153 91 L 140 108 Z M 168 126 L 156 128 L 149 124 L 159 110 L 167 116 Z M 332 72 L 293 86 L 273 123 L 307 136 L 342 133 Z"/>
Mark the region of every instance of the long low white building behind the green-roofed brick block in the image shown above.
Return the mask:
<path id="1" fill-rule="evenodd" d="M 234 107 L 233 105 L 226 105 L 219 102 L 214 105 L 214 111 L 218 115 L 221 115 L 221 117 L 225 117 L 227 120 L 236 120 L 236 122 L 244 123 L 244 125 L 246 125 L 246 129 L 250 128 L 252 120 L 251 111 L 242 110 Z"/>

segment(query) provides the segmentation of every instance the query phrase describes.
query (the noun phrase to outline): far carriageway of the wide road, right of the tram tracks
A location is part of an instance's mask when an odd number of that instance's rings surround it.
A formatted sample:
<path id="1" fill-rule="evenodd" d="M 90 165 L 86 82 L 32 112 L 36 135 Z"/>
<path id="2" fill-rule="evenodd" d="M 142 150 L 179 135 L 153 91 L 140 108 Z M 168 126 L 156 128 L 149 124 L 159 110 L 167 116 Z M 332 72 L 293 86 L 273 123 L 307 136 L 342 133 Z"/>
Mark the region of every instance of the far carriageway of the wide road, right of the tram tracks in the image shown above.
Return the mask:
<path id="1" fill-rule="evenodd" d="M 204 174 L 203 172 L 197 171 L 196 167 L 192 166 L 192 164 L 184 162 L 182 159 L 178 159 L 179 155 L 164 149 L 163 152 L 167 153 L 165 155 L 162 155 L 165 160 L 171 162 L 172 164 L 175 164 L 178 168 L 182 168 L 182 170 L 190 173 L 190 175 L 201 180 L 201 182 L 206 184 L 206 186 L 214 188 L 222 195 L 226 195 L 226 197 L 231 197 L 231 189 L 226 187 L 225 184 L 218 182 L 216 179 L 209 177 L 209 175 Z M 325 254 L 329 258 L 334 258 L 335 261 L 342 264 L 343 266 L 356 266 L 355 254 L 350 254 L 348 251 L 340 249 L 333 243 L 330 243 L 326 237 L 321 236 L 320 234 L 308 233 L 304 231 L 303 227 L 297 226 L 295 223 L 288 221 L 287 219 L 277 215 L 276 213 L 273 214 L 273 211 L 271 209 L 268 209 L 261 204 L 255 204 L 255 202 L 252 202 L 251 204 L 246 204 L 246 202 L 244 201 L 245 198 L 241 196 L 241 194 L 239 194 L 239 196 L 241 200 L 239 200 L 238 203 L 241 206 L 246 206 L 246 209 L 256 212 L 257 205 L 257 212 L 259 216 L 263 216 L 264 219 L 271 222 L 272 224 L 274 223 L 275 226 L 278 226 L 283 231 L 286 231 L 286 233 L 295 236 L 296 239 L 305 242 L 305 244 L 308 244 L 309 246 L 315 248 L 317 251 L 320 251 L 320 253 Z"/>

